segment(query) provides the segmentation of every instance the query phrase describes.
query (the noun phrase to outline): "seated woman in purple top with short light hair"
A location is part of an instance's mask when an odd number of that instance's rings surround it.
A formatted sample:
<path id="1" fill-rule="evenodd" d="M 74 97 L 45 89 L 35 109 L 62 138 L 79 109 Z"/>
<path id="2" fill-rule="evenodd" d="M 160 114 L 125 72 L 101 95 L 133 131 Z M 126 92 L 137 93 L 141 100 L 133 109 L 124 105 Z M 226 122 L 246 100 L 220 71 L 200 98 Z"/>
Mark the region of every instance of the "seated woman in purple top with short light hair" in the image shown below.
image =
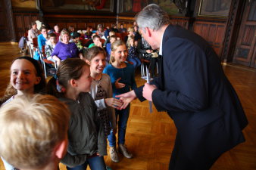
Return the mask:
<path id="1" fill-rule="evenodd" d="M 57 43 L 54 51 L 52 52 L 52 58 L 57 61 L 57 65 L 61 63 L 61 60 L 78 57 L 78 55 L 80 55 L 76 44 L 73 42 L 69 42 L 69 37 L 70 36 L 68 32 L 61 31 L 61 42 Z"/>

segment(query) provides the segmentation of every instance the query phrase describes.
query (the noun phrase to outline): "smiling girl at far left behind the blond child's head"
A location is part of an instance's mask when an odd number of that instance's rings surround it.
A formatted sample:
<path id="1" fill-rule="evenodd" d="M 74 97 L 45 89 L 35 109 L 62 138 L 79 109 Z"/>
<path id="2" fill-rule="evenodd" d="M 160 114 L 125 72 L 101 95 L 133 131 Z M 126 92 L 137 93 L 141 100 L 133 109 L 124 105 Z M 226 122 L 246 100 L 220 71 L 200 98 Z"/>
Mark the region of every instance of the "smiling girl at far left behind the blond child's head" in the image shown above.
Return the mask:
<path id="1" fill-rule="evenodd" d="M 10 84 L 5 90 L 5 96 L 1 98 L 1 104 L 9 103 L 16 96 L 43 93 L 45 85 L 45 76 L 38 61 L 27 56 L 17 57 L 11 63 Z M 2 160 L 6 170 L 14 169 L 5 159 Z"/>

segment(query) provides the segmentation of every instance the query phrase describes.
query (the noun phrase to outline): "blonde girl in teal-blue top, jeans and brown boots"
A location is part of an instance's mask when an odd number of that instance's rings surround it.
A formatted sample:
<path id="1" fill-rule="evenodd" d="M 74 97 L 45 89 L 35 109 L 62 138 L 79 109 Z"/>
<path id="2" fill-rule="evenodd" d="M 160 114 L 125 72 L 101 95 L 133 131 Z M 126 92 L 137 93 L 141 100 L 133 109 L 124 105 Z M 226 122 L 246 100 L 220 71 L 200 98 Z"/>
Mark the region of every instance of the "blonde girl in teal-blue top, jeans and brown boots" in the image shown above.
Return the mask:
<path id="1" fill-rule="evenodd" d="M 103 73 L 106 73 L 111 77 L 113 97 L 130 91 L 130 88 L 136 88 L 133 65 L 125 62 L 127 54 L 128 51 L 124 42 L 121 40 L 113 42 L 111 45 L 111 64 L 106 66 L 103 71 Z M 116 119 L 118 119 L 118 148 L 120 153 L 123 153 L 123 156 L 130 159 L 133 155 L 128 152 L 125 145 L 126 124 L 129 118 L 130 105 L 124 110 L 116 109 L 115 113 Z M 119 162 L 116 150 L 116 137 L 113 131 L 108 135 L 108 141 L 110 145 L 111 160 L 113 162 Z"/>

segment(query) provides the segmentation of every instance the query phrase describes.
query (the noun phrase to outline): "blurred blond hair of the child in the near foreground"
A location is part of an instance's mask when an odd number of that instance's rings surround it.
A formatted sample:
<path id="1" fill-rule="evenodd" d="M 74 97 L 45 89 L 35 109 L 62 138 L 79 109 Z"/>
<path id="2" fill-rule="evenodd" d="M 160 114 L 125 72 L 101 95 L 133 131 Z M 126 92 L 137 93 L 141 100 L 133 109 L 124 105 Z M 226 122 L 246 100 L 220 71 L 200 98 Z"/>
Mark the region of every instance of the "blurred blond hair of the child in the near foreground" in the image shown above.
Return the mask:
<path id="1" fill-rule="evenodd" d="M 67 138 L 70 113 L 51 95 L 15 97 L 0 109 L 0 154 L 16 168 L 45 167 Z"/>

